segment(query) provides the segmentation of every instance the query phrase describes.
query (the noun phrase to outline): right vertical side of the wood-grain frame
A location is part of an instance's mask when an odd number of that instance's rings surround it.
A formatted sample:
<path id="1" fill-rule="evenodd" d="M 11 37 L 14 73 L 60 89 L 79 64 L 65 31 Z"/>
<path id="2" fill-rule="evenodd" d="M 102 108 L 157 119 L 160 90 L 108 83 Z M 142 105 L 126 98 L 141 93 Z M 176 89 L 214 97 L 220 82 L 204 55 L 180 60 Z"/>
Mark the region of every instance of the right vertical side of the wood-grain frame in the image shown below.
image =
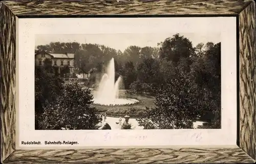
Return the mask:
<path id="1" fill-rule="evenodd" d="M 255 159 L 255 2 L 239 14 L 240 148 Z"/>

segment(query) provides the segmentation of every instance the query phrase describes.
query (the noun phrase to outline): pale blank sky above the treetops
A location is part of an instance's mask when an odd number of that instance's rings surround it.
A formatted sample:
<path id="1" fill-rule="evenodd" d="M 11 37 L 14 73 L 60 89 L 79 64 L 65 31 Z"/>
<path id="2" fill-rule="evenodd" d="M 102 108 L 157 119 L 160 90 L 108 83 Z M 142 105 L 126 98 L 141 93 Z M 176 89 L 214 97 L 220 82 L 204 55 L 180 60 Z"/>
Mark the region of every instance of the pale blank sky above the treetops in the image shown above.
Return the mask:
<path id="1" fill-rule="evenodd" d="M 92 43 L 103 44 L 122 52 L 131 45 L 139 47 L 152 46 L 156 47 L 157 43 L 163 42 L 167 37 L 172 37 L 175 33 L 169 34 L 81 34 L 81 35 L 36 35 L 35 47 L 37 45 L 46 45 L 50 42 L 78 42 L 80 44 Z M 193 46 L 198 43 L 221 42 L 220 33 L 180 33 L 188 38 Z"/>

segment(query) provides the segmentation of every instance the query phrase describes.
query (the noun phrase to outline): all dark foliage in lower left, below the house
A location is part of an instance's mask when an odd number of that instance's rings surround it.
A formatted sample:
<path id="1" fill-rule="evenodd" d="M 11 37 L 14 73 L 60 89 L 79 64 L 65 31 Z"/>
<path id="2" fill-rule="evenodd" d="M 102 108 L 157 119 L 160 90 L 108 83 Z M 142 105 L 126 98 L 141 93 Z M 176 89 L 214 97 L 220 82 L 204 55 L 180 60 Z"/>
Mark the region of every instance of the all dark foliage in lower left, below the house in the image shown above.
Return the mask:
<path id="1" fill-rule="evenodd" d="M 51 69 L 35 68 L 35 129 L 96 129 L 91 91 L 76 81 L 64 83 Z"/>

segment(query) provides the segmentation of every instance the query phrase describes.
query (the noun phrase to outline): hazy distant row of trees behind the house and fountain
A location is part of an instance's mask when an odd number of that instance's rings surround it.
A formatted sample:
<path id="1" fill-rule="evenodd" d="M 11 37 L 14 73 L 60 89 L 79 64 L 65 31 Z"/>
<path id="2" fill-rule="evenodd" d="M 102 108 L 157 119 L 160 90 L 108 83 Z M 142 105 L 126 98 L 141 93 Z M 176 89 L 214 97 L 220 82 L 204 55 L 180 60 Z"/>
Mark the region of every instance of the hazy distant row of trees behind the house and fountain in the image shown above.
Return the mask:
<path id="1" fill-rule="evenodd" d="M 159 52 L 157 47 L 129 46 L 122 52 L 105 45 L 77 42 L 51 42 L 47 45 L 38 45 L 37 50 L 46 50 L 52 53 L 75 53 L 75 67 L 86 73 L 93 69 L 101 71 L 105 62 L 109 62 L 112 58 L 119 65 L 123 65 L 127 61 L 137 65 L 145 58 L 158 58 Z"/>

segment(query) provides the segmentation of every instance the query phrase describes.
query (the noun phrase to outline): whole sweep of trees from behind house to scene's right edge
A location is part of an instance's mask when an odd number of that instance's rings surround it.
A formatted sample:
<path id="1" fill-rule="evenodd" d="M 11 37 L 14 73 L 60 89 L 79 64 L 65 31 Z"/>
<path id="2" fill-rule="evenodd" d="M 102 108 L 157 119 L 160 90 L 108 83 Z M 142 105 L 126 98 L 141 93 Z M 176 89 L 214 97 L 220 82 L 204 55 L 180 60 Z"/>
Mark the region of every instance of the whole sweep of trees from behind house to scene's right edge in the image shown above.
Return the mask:
<path id="1" fill-rule="evenodd" d="M 176 34 L 158 47 L 129 46 L 123 52 L 76 42 L 37 48 L 75 53 L 75 67 L 91 74 L 91 85 L 114 58 L 116 77 L 122 75 L 125 89 L 156 96 L 156 107 L 139 120 L 145 128 L 191 128 L 197 117 L 211 122 L 209 128 L 220 128 L 221 43 L 193 47 L 189 39 Z"/>

